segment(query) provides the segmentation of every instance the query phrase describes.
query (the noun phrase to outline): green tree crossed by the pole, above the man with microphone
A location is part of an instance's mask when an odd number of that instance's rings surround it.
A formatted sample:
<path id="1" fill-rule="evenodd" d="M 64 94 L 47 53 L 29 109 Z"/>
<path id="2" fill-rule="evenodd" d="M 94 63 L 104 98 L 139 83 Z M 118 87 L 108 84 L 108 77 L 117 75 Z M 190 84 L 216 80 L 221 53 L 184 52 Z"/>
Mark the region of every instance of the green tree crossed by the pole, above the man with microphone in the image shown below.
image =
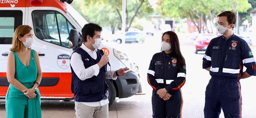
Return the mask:
<path id="1" fill-rule="evenodd" d="M 89 22 L 96 22 L 101 26 L 111 26 L 112 33 L 115 28 L 122 28 L 122 0 L 80 0 L 72 5 Z M 147 0 L 126 1 L 126 31 L 131 27 L 134 18 L 141 18 L 151 13 L 153 8 Z"/>

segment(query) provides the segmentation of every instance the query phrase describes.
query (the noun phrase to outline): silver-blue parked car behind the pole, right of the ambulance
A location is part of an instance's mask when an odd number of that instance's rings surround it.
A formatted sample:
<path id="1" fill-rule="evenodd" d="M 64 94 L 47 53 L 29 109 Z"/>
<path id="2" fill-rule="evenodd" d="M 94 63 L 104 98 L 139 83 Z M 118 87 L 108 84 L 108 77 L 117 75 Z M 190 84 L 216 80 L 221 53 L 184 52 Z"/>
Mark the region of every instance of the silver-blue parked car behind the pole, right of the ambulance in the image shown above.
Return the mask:
<path id="1" fill-rule="evenodd" d="M 117 33 L 114 34 L 114 42 L 117 43 L 122 43 L 123 42 L 123 38 L 122 38 L 122 33 Z M 135 31 L 128 31 L 125 33 L 125 42 L 139 42 L 142 43 L 144 42 L 144 37 L 143 34 L 141 32 L 135 32 Z"/>

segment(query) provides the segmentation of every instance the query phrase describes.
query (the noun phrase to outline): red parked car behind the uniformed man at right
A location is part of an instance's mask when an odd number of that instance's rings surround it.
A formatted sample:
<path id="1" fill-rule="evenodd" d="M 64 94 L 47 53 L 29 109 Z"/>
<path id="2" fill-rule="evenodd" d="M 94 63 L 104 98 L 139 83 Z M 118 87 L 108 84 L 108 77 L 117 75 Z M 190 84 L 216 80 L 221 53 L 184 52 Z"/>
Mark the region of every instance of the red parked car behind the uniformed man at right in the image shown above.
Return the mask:
<path id="1" fill-rule="evenodd" d="M 217 37 L 215 34 L 199 34 L 194 42 L 195 45 L 195 53 L 197 54 L 198 51 L 206 51 L 210 41 Z"/>

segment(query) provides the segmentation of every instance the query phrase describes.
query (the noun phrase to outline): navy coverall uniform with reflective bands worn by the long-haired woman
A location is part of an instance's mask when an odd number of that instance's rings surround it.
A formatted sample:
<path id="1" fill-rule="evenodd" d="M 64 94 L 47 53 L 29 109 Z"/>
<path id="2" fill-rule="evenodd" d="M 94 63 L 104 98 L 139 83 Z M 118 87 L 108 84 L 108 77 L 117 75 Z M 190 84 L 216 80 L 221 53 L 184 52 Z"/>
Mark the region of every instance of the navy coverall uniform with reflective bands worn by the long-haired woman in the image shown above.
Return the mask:
<path id="1" fill-rule="evenodd" d="M 153 118 L 180 118 L 183 104 L 180 88 L 186 81 L 186 66 L 178 70 L 179 60 L 172 53 L 164 51 L 156 53 L 148 69 L 148 83 L 153 88 L 152 110 Z M 156 93 L 165 88 L 172 96 L 164 101 Z"/>

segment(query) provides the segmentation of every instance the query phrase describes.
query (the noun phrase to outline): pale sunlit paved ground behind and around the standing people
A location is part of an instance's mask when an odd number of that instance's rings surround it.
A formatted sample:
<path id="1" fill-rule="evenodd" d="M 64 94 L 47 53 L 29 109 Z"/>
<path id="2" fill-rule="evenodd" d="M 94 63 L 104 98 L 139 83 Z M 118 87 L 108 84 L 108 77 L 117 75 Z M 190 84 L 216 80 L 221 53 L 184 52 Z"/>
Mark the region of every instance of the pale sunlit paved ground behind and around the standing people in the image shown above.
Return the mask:
<path id="1" fill-rule="evenodd" d="M 202 54 L 195 54 L 193 41 L 185 34 L 179 35 L 181 51 L 187 64 L 186 83 L 182 87 L 183 118 L 203 118 L 205 88 L 210 79 L 209 72 L 202 69 Z M 109 108 L 110 118 L 152 118 L 151 95 L 152 88 L 148 85 L 146 76 L 153 54 L 160 51 L 161 37 L 146 37 L 142 44 L 115 44 L 113 46 L 125 52 L 129 59 L 139 66 L 140 81 L 144 95 L 134 95 L 129 98 L 116 98 L 115 106 Z M 254 53 L 256 48 L 252 47 Z M 135 54 L 136 53 L 136 54 Z M 200 52 L 199 52 L 200 53 Z M 139 55 L 138 55 L 139 54 Z M 244 68 L 245 69 L 245 68 Z M 243 79 L 241 82 L 243 118 L 256 118 L 255 92 L 256 77 Z M 116 114 L 116 109 L 117 114 Z M 43 118 L 75 118 L 74 101 L 42 101 Z M 5 100 L 0 100 L 0 118 L 5 118 Z M 224 118 L 221 113 L 220 118 Z"/>

